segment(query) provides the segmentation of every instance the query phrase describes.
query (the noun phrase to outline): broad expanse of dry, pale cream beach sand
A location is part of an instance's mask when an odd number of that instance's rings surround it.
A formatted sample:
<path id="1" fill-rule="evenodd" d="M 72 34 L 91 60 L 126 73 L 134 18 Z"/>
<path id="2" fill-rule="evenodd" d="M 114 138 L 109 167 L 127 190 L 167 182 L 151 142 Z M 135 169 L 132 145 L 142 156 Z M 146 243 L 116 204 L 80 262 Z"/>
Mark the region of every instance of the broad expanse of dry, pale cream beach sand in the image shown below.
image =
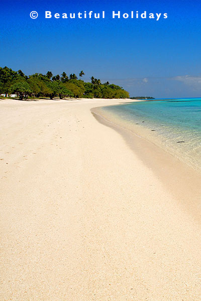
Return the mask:
<path id="1" fill-rule="evenodd" d="M 1 300 L 200 300 L 197 190 L 90 112 L 119 102 L 0 101 Z"/>

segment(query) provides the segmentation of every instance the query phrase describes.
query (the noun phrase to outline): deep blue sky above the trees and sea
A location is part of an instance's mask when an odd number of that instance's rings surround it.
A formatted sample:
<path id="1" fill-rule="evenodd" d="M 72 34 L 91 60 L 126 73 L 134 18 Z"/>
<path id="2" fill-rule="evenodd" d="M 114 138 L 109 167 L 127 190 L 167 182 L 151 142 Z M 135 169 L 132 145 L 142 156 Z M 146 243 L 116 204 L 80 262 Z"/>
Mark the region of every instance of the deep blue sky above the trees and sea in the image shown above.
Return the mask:
<path id="1" fill-rule="evenodd" d="M 45 11 L 105 11 L 105 19 L 45 19 Z M 112 11 L 168 18 L 112 19 Z M 1 67 L 84 70 L 84 80 L 108 80 L 131 96 L 201 97 L 201 1 L 1 1 L 0 16 Z"/>

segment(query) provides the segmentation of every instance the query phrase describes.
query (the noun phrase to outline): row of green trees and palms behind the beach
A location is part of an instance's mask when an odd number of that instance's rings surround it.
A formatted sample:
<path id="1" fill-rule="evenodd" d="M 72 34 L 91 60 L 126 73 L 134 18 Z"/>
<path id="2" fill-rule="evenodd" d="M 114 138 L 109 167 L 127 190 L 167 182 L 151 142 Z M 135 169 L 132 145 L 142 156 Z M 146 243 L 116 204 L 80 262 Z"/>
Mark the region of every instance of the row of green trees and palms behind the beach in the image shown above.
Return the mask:
<path id="1" fill-rule="evenodd" d="M 35 73 L 25 75 L 22 70 L 14 71 L 8 67 L 0 67 L 0 94 L 9 96 L 17 94 L 19 99 L 59 97 L 76 98 L 128 98 L 129 93 L 122 87 L 101 83 L 99 79 L 90 78 L 91 82 L 84 82 L 81 78 L 84 72 L 80 71 L 79 79 L 74 73 L 69 76 L 63 72 L 53 76 L 51 71 L 46 74 Z"/>

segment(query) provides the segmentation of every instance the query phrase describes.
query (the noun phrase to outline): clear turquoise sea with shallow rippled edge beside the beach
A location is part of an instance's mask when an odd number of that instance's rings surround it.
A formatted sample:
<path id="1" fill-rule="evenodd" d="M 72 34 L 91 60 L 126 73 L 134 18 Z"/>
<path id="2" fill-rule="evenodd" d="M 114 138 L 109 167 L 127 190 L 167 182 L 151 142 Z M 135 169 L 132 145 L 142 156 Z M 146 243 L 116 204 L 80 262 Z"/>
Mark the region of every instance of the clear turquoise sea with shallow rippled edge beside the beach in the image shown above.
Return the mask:
<path id="1" fill-rule="evenodd" d="M 132 102 L 103 110 L 133 125 L 135 132 L 146 128 L 149 140 L 201 168 L 201 98 Z"/>

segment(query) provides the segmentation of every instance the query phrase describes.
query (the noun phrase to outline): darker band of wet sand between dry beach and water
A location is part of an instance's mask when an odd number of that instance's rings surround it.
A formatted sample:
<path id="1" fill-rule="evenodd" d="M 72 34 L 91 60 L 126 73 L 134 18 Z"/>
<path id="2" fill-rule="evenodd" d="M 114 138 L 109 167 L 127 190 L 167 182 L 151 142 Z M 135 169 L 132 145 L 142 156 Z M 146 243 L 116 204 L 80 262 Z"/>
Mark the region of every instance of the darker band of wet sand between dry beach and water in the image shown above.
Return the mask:
<path id="1" fill-rule="evenodd" d="M 105 116 L 101 109 L 102 107 L 91 109 L 96 120 L 120 133 L 132 151 L 148 168 L 151 168 L 170 193 L 176 197 L 181 207 L 189 211 L 200 223 L 201 172 L 188 166 L 147 137 L 123 127 L 114 120 L 109 120 L 110 116 L 109 118 L 108 115 Z"/>

